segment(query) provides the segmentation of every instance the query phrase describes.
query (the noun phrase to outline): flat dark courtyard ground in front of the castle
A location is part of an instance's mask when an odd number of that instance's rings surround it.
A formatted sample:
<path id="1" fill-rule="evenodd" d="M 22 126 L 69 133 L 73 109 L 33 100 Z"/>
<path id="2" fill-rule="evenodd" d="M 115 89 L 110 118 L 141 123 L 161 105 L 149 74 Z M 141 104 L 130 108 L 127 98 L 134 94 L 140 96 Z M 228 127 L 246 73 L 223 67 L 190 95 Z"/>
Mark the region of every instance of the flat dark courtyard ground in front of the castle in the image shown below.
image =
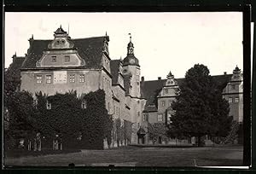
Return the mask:
<path id="1" fill-rule="evenodd" d="M 120 147 L 82 150 L 70 154 L 48 154 L 4 158 L 9 166 L 241 166 L 241 146 L 202 148 Z"/>

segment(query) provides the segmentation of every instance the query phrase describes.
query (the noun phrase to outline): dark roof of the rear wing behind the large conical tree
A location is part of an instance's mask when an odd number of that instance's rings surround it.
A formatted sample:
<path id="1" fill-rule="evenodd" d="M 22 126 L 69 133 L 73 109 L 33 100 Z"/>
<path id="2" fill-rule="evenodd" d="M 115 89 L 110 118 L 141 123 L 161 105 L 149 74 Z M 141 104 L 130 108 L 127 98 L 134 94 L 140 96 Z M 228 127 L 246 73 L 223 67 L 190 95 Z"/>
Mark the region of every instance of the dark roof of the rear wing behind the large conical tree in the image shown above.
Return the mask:
<path id="1" fill-rule="evenodd" d="M 212 80 L 217 84 L 219 90 L 223 90 L 230 81 L 232 74 L 212 76 Z M 184 83 L 185 78 L 176 78 L 177 84 Z M 145 111 L 154 111 L 157 109 L 157 98 L 160 90 L 166 84 L 166 79 L 158 79 L 151 81 L 141 81 L 141 95 L 147 99 Z"/>

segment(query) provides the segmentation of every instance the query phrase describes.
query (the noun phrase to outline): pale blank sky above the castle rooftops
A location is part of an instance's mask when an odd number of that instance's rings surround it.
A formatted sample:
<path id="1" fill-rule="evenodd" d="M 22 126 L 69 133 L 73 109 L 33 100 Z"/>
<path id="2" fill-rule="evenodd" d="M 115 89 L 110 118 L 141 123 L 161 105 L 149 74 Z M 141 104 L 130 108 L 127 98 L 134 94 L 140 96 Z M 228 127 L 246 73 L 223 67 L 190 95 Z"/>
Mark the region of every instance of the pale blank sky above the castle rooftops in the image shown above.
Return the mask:
<path id="1" fill-rule="evenodd" d="M 90 38 L 108 33 L 109 54 L 124 59 L 127 44 L 145 80 L 166 78 L 170 71 L 183 78 L 200 63 L 211 75 L 232 73 L 243 66 L 242 14 L 240 12 L 178 13 L 5 13 L 5 65 L 12 55 L 24 56 L 28 39 L 53 39 L 62 26 L 71 38 Z"/>

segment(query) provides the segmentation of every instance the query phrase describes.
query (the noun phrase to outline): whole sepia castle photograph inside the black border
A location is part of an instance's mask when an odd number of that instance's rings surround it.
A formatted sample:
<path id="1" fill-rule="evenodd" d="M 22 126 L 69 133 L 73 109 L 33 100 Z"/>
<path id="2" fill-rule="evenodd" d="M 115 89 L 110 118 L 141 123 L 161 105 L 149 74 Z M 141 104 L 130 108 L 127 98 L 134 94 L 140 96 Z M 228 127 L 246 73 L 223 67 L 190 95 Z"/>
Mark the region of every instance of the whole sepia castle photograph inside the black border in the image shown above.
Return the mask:
<path id="1" fill-rule="evenodd" d="M 6 12 L 3 167 L 243 166 L 241 12 Z"/>

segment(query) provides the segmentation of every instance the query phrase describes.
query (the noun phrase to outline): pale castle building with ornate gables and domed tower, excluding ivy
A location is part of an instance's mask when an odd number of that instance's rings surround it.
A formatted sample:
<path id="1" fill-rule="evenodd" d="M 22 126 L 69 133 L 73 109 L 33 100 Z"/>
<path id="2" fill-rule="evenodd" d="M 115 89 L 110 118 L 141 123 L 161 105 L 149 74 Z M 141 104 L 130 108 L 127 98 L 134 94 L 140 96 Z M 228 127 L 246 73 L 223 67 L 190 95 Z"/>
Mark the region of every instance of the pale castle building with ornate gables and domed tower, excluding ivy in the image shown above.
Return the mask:
<path id="1" fill-rule="evenodd" d="M 148 124 L 166 126 L 172 115 L 171 103 L 184 78 L 174 78 L 170 72 L 166 79 L 146 81 L 141 78 L 141 67 L 134 53 L 134 44 L 127 45 L 124 60 L 112 60 L 108 52 L 109 37 L 70 38 L 60 26 L 52 40 L 29 39 L 25 57 L 13 56 L 15 80 L 19 90 L 35 95 L 42 91 L 48 96 L 76 90 L 77 95 L 104 90 L 106 109 L 113 119 L 131 122 L 131 142 L 152 143 Z M 212 76 L 230 102 L 230 116 L 242 122 L 242 73 L 236 67 L 233 74 Z M 118 146 L 113 126 L 113 144 Z M 163 137 L 158 143 L 167 142 Z M 122 144 L 120 144 L 122 145 Z"/>

